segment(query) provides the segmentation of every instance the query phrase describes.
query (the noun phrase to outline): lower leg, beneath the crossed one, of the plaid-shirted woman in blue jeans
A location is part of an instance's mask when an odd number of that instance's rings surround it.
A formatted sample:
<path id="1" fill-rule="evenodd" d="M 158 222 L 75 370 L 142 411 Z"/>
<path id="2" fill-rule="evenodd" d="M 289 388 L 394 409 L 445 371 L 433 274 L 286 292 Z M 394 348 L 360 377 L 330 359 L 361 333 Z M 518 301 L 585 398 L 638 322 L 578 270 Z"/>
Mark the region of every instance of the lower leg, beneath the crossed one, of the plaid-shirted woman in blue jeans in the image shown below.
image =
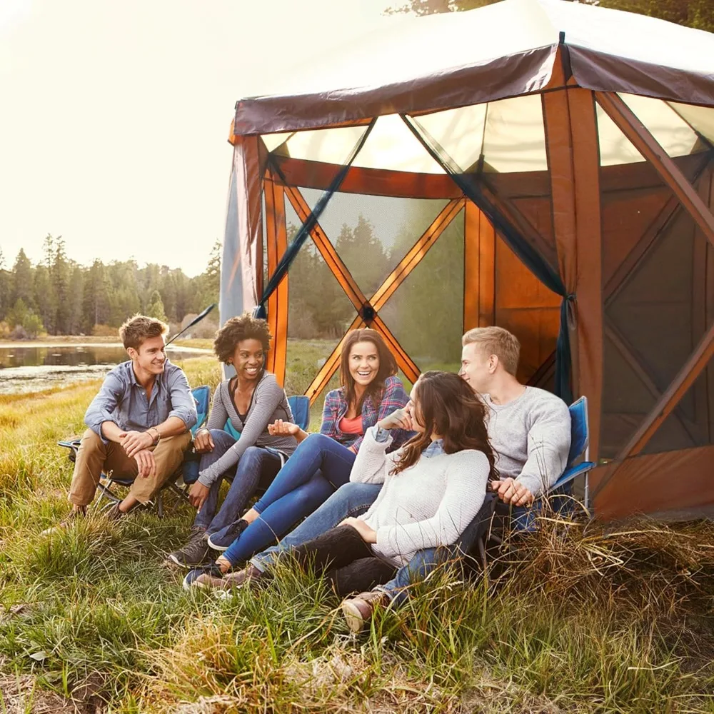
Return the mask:
<path id="1" fill-rule="evenodd" d="M 252 558 L 288 533 L 297 521 L 312 513 L 331 493 L 332 486 L 322 476 L 315 474 L 308 483 L 303 483 L 268 506 L 261 517 L 253 521 L 240 538 L 222 553 L 221 558 L 231 563 L 231 566 Z"/>

